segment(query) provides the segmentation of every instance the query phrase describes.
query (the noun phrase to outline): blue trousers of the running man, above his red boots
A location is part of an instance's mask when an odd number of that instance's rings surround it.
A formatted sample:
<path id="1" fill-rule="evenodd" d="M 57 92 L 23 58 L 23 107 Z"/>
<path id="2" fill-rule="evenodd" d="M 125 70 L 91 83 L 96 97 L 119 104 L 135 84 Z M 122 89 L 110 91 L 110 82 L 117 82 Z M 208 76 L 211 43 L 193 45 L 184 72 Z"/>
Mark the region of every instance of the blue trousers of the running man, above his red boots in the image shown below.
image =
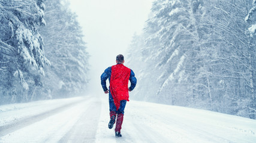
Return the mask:
<path id="1" fill-rule="evenodd" d="M 109 111 L 115 111 L 116 114 L 124 114 L 125 113 L 125 105 L 127 104 L 126 100 L 121 100 L 120 101 L 120 107 L 118 110 L 116 110 L 116 105 L 114 103 L 113 97 L 111 93 L 109 92 Z"/>

